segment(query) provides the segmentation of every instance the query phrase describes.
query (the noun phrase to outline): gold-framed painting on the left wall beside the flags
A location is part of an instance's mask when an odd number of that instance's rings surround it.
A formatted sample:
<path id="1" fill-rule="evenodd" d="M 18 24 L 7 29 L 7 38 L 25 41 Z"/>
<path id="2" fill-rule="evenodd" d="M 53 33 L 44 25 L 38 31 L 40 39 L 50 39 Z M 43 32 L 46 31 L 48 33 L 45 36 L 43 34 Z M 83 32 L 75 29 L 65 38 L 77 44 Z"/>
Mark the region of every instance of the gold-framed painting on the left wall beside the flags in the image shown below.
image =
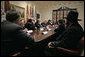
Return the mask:
<path id="1" fill-rule="evenodd" d="M 11 9 L 16 10 L 20 14 L 21 19 L 25 19 L 25 8 L 11 4 Z"/>

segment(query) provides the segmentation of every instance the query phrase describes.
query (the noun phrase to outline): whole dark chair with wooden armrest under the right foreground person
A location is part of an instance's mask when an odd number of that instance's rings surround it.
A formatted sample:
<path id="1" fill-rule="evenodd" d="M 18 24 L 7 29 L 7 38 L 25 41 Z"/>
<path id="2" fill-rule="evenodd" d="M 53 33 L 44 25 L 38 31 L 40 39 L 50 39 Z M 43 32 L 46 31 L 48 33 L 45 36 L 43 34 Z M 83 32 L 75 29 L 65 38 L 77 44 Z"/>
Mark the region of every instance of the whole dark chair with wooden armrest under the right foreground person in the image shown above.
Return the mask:
<path id="1" fill-rule="evenodd" d="M 47 56 L 81 56 L 82 50 L 84 50 L 84 37 L 79 41 L 76 50 L 69 50 L 63 47 L 53 47 L 46 49 L 45 54 Z"/>

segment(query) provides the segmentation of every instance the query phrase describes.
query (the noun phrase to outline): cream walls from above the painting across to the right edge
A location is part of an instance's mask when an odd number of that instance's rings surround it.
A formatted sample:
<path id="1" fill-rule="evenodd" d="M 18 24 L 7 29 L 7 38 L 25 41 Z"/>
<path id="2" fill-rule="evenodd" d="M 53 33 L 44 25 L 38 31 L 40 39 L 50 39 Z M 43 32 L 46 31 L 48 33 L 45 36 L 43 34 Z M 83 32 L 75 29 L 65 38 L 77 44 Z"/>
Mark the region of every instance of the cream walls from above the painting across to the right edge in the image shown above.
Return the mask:
<path id="1" fill-rule="evenodd" d="M 37 3 L 37 1 L 35 1 L 36 3 L 34 3 L 34 1 L 10 1 L 11 4 L 14 5 L 18 5 L 21 7 L 25 8 L 25 20 L 26 20 L 26 11 L 27 11 L 27 4 L 28 6 L 35 6 L 37 9 L 37 13 L 40 14 L 40 19 L 42 20 L 42 22 L 45 19 L 52 19 L 52 10 L 58 9 L 62 6 L 66 6 L 69 8 L 77 8 L 78 12 L 79 12 L 79 18 L 82 19 L 82 21 L 79 21 L 79 23 L 82 25 L 82 27 L 84 28 L 84 3 L 77 3 L 77 2 L 72 2 L 72 4 L 69 4 L 69 1 L 50 1 L 50 3 L 46 2 L 39 2 Z"/>

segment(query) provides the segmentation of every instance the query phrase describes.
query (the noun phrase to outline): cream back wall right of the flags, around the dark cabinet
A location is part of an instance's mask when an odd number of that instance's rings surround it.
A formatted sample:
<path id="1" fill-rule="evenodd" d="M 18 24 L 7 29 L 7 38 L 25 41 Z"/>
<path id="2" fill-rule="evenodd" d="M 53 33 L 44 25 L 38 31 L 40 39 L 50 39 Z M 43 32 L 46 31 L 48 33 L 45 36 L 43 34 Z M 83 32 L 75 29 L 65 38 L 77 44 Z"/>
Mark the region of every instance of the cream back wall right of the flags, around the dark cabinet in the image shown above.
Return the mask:
<path id="1" fill-rule="evenodd" d="M 64 1 L 65 3 L 65 1 Z M 75 3 L 73 2 L 72 4 L 65 4 L 63 5 L 61 3 L 60 4 L 47 4 L 47 5 L 38 5 L 38 11 L 40 13 L 40 19 L 42 21 L 44 21 L 45 19 L 49 20 L 49 19 L 52 19 L 52 10 L 55 10 L 55 9 L 58 9 L 62 6 L 66 6 L 66 7 L 69 7 L 69 8 L 77 8 L 78 12 L 79 12 L 79 19 L 82 19 L 82 21 L 79 21 L 79 23 L 81 24 L 81 26 L 83 27 L 84 29 L 84 3 Z"/>

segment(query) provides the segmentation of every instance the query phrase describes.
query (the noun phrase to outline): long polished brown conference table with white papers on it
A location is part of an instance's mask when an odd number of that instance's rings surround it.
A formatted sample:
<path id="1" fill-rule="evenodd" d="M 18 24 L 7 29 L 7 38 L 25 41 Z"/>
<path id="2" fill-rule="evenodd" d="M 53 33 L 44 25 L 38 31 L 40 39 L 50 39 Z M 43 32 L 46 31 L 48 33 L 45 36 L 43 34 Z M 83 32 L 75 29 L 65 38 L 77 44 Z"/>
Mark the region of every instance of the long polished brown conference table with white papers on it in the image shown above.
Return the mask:
<path id="1" fill-rule="evenodd" d="M 55 34 L 54 29 L 56 28 L 56 26 L 51 26 L 49 29 L 44 28 L 44 30 L 34 30 L 30 35 L 34 38 L 35 42 L 39 42 L 42 41 L 48 37 L 50 37 L 51 35 Z M 46 32 L 46 34 L 44 34 L 44 32 Z"/>

